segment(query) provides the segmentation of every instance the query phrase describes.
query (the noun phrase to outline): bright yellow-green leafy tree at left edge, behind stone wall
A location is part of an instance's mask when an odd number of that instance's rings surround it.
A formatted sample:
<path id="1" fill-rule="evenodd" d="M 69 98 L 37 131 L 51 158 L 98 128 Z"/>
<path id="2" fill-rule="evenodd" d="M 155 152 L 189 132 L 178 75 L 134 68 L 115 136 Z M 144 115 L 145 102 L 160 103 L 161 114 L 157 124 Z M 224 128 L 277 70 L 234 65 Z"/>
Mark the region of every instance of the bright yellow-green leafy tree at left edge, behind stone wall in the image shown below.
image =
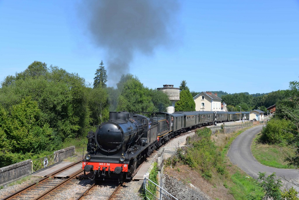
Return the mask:
<path id="1" fill-rule="evenodd" d="M 0 106 L 0 167 L 28 159 L 32 153 L 51 150 L 53 130 L 40 117 L 41 110 L 30 96 L 9 111 Z"/>

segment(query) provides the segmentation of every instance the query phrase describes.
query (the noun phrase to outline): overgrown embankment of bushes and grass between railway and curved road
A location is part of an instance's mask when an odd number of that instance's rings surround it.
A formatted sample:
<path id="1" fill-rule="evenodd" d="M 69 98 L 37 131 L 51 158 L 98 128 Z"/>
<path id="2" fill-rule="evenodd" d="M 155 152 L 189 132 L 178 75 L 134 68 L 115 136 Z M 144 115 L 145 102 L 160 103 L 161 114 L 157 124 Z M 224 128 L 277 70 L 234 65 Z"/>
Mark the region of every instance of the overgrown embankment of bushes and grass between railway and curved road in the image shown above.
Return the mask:
<path id="1" fill-rule="evenodd" d="M 259 183 L 232 166 L 229 159 L 225 157 L 231 142 L 247 129 L 231 134 L 216 134 L 212 136 L 213 142 L 209 128 L 199 129 L 193 137 L 187 138 L 186 153 L 179 152 L 178 156 L 167 159 L 165 165 L 172 167 L 179 163 L 188 165 L 212 185 L 218 183 L 217 189 L 223 190 L 220 187 L 228 189 L 228 193 L 231 193 L 235 199 L 262 199 L 264 193 Z M 222 145 L 216 146 L 215 143 Z"/>

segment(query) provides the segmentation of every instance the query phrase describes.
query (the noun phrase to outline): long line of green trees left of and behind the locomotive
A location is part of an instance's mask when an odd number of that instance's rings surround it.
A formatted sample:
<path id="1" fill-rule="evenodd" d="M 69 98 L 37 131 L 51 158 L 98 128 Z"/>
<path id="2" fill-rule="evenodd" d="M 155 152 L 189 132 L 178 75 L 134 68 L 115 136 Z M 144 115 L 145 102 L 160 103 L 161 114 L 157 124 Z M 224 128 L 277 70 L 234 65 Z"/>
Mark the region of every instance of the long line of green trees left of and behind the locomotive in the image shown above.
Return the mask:
<path id="1" fill-rule="evenodd" d="M 167 94 L 149 89 L 132 74 L 107 87 L 103 61 L 94 83 L 58 66 L 34 61 L 8 75 L 0 87 L 0 167 L 33 159 L 80 138 L 109 119 L 109 111 L 165 112 Z"/>

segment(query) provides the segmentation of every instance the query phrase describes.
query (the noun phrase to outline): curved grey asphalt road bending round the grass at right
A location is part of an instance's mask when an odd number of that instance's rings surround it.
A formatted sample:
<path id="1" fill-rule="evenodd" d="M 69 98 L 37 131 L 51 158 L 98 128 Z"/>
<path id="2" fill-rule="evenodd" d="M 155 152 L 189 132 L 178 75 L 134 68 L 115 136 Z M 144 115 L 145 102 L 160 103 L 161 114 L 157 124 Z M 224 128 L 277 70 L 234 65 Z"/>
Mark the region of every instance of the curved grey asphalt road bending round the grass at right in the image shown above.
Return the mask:
<path id="1" fill-rule="evenodd" d="M 299 171 L 295 169 L 278 169 L 274 167 L 268 167 L 259 163 L 251 153 L 251 143 L 254 137 L 260 133 L 263 125 L 256 126 L 254 128 L 248 129 L 240 134 L 231 144 L 231 148 L 228 150 L 228 157 L 231 162 L 245 171 L 249 176 L 253 178 L 258 178 L 258 172 L 266 172 L 266 175 L 270 175 L 273 172 L 276 176 L 280 176 L 281 181 L 285 187 L 289 188 L 293 186 L 297 191 L 299 191 L 298 186 L 295 186 L 288 181 L 298 181 L 299 184 Z M 282 177 L 286 178 L 285 181 Z"/>

